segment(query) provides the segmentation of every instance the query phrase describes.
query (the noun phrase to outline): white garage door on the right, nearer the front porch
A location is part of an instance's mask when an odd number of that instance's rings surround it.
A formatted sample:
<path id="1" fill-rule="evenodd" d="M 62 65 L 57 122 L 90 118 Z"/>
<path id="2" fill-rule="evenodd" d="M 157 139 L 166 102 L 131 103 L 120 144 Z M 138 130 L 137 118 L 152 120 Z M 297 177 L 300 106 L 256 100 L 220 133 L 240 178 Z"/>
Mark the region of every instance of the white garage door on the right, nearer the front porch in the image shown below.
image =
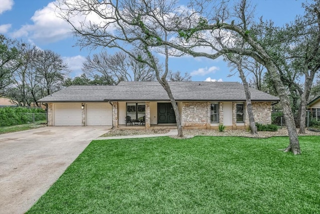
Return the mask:
<path id="1" fill-rule="evenodd" d="M 86 104 L 87 126 L 110 126 L 112 125 L 112 108 L 109 103 Z"/>

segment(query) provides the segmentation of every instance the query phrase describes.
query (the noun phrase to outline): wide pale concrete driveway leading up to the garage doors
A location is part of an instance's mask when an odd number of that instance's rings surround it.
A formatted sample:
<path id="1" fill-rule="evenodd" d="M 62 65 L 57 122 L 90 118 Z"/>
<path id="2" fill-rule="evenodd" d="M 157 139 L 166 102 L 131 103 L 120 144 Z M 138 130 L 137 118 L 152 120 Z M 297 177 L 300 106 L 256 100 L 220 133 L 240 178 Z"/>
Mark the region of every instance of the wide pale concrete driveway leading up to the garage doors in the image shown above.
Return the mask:
<path id="1" fill-rule="evenodd" d="M 24 213 L 106 126 L 43 127 L 0 135 L 0 213 Z"/>

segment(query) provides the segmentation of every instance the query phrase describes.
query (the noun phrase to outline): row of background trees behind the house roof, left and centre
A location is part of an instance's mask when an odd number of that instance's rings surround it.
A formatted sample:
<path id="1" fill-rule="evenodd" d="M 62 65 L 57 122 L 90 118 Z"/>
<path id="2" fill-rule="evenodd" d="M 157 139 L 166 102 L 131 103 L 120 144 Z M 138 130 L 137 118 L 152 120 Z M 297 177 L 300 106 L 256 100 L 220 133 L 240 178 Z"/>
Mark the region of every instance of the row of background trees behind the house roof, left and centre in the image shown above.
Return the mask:
<path id="1" fill-rule="evenodd" d="M 119 81 L 154 81 L 154 71 L 123 52 L 88 56 L 80 76 L 70 77 L 62 57 L 0 35 L 0 97 L 18 106 L 37 106 L 37 100 L 70 85 L 115 85 Z M 190 81 L 187 73 L 170 72 L 170 81 Z"/>

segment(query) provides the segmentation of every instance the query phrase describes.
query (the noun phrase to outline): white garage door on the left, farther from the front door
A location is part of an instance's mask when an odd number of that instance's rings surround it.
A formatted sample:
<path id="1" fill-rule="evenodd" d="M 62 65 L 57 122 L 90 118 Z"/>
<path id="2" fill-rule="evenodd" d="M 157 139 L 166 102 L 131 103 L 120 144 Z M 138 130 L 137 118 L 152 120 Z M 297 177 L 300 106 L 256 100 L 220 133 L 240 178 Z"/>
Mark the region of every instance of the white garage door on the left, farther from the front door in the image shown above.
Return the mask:
<path id="1" fill-rule="evenodd" d="M 81 104 L 54 104 L 55 126 L 81 126 Z"/>

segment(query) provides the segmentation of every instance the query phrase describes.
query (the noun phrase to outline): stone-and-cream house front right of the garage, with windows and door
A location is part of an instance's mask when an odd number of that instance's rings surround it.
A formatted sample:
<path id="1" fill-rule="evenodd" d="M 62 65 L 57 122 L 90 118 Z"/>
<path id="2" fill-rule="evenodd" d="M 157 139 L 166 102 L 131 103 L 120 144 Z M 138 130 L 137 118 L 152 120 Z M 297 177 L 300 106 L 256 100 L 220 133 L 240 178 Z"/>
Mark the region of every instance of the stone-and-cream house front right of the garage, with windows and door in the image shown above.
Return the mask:
<path id="1" fill-rule="evenodd" d="M 223 124 L 235 130 L 248 126 L 245 102 L 183 101 L 177 102 L 177 107 L 183 129 L 218 129 Z M 256 122 L 271 122 L 271 102 L 252 102 L 252 110 Z M 136 122 L 126 124 L 128 116 L 130 121 Z M 112 102 L 112 124 L 120 129 L 176 128 L 171 104 L 156 101 Z"/>

